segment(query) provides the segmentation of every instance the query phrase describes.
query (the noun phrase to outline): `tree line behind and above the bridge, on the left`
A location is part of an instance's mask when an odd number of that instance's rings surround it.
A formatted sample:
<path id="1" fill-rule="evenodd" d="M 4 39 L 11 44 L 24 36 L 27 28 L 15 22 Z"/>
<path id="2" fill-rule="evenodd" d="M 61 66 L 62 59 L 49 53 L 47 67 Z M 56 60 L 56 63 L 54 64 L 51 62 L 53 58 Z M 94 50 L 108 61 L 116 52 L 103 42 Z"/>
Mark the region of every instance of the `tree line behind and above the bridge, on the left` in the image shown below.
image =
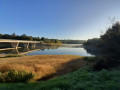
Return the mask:
<path id="1" fill-rule="evenodd" d="M 0 39 L 15 39 L 15 40 L 30 40 L 30 41 L 43 41 L 44 43 L 61 43 L 58 39 L 48 39 L 45 37 L 32 37 L 27 36 L 26 34 L 23 35 L 16 35 L 13 34 L 0 34 Z"/>

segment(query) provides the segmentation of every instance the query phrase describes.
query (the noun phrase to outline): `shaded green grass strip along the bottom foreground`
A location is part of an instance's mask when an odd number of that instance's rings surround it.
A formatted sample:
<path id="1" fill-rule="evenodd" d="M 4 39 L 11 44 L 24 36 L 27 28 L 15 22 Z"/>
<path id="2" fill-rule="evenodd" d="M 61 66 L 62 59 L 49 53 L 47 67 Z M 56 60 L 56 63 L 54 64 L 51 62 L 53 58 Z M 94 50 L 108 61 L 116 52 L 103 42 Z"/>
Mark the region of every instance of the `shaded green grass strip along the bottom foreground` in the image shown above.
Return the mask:
<path id="1" fill-rule="evenodd" d="M 48 81 L 0 84 L 0 90 L 120 90 L 120 71 L 79 69 Z"/>

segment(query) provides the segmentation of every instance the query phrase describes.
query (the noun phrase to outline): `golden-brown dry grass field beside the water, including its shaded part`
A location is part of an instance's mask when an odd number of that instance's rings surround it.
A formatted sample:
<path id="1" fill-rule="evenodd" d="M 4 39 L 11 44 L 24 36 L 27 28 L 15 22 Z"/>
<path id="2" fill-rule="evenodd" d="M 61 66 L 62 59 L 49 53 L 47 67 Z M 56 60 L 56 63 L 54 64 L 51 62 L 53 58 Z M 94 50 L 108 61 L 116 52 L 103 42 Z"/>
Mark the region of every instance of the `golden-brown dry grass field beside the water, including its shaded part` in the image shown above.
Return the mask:
<path id="1" fill-rule="evenodd" d="M 81 56 L 74 55 L 33 55 L 0 58 L 0 71 L 9 69 L 25 70 L 35 74 L 34 80 L 48 76 L 60 76 L 86 65 Z"/>

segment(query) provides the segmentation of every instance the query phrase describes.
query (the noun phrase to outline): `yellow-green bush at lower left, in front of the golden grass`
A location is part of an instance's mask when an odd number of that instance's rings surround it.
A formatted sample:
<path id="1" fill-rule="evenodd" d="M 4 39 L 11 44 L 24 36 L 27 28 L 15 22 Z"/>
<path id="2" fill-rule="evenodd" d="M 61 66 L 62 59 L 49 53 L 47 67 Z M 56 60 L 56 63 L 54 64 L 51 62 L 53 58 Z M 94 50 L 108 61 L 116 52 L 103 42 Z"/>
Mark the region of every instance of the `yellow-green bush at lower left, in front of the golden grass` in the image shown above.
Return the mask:
<path id="1" fill-rule="evenodd" d="M 25 71 L 8 70 L 6 72 L 0 72 L 0 83 L 19 83 L 28 82 L 34 75 Z"/>

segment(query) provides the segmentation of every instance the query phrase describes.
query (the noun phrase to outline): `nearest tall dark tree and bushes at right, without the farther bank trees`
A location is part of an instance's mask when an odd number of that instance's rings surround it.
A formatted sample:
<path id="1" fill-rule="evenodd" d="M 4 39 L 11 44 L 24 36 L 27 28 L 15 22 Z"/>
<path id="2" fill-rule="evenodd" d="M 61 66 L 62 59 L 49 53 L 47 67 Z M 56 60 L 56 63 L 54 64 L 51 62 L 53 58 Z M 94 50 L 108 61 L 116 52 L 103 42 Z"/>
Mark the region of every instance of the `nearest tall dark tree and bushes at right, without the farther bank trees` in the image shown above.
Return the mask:
<path id="1" fill-rule="evenodd" d="M 120 23 L 116 22 L 104 35 L 101 35 L 101 53 L 104 61 L 98 62 L 98 67 L 117 67 L 120 65 Z M 104 63 L 103 63 L 104 62 Z"/>

